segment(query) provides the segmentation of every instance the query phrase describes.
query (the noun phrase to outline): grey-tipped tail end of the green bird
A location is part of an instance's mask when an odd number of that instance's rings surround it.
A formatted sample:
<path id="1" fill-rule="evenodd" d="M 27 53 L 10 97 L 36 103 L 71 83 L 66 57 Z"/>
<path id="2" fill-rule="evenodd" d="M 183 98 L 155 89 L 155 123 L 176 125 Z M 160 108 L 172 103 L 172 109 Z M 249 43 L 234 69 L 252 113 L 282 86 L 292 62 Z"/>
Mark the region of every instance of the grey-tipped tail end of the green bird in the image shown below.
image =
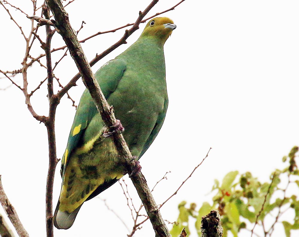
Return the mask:
<path id="1" fill-rule="evenodd" d="M 53 216 L 53 224 L 57 229 L 65 229 L 66 230 L 73 225 L 75 218 L 76 218 L 82 204 L 71 213 L 68 213 L 66 211 L 64 211 L 64 212 L 60 211 L 59 205 L 60 205 L 60 201 L 58 201 L 57 207 L 55 209 L 55 213 Z"/>

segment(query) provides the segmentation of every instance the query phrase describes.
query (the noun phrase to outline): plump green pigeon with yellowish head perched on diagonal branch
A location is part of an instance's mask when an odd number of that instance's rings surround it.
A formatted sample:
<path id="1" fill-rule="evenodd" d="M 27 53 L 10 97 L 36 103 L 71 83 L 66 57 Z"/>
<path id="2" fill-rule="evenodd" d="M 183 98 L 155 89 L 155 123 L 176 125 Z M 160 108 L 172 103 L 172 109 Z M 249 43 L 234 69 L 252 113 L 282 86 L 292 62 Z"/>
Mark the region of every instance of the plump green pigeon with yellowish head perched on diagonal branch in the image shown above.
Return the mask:
<path id="1" fill-rule="evenodd" d="M 150 20 L 132 46 L 95 73 L 137 159 L 152 144 L 165 118 L 168 97 L 163 46 L 175 28 L 167 17 Z M 85 90 L 61 162 L 62 187 L 53 217 L 58 229 L 70 228 L 84 201 L 127 173 L 104 126 Z M 122 130 L 122 126 L 118 129 Z"/>

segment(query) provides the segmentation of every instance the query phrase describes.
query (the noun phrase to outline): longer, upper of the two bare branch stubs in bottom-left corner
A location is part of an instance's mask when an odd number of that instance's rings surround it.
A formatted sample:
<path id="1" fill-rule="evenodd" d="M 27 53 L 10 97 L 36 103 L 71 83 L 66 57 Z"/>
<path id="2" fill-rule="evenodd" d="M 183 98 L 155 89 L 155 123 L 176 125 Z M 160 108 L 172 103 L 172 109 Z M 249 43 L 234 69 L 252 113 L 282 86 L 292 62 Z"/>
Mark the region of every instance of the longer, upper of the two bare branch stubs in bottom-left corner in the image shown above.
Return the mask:
<path id="1" fill-rule="evenodd" d="M 29 237 L 27 231 L 23 227 L 23 225 L 18 217 L 18 214 L 16 213 L 15 208 L 10 203 L 10 201 L 8 200 L 8 198 L 4 192 L 2 182 L 1 182 L 1 175 L 0 175 L 0 202 L 1 202 L 1 205 L 2 205 L 6 215 L 8 216 L 11 223 L 13 224 L 13 227 L 15 227 L 18 235 L 21 237 Z"/>

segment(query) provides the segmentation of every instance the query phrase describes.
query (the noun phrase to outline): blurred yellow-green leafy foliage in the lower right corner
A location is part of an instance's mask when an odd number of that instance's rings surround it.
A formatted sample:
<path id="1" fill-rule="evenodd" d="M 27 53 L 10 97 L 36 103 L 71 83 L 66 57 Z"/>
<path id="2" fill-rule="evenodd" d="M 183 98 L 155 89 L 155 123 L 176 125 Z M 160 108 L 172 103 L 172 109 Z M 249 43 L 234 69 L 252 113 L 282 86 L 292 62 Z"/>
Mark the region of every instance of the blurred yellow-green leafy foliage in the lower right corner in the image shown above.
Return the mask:
<path id="1" fill-rule="evenodd" d="M 212 198 L 212 205 L 204 202 L 196 211 L 195 203 L 187 208 L 185 207 L 187 202 L 182 201 L 179 204 L 178 220 L 170 231 L 171 235 L 179 236 L 184 227 L 187 233 L 190 233 L 189 217 L 192 217 L 196 218 L 195 228 L 198 236 L 201 236 L 202 216 L 217 209 L 221 216 L 223 237 L 226 237 L 228 232 L 231 232 L 234 237 L 238 236 L 241 229 L 249 230 L 252 233 L 251 236 L 257 235 L 256 225 L 263 229 L 265 237 L 271 236 L 274 226 L 278 223 L 282 223 L 286 237 L 291 236 L 291 230 L 299 229 L 299 171 L 295 161 L 298 157 L 296 156 L 298 149 L 298 147 L 293 147 L 289 155 L 283 157 L 283 162 L 288 165 L 282 170 L 275 170 L 270 176 L 270 183 L 260 182 L 250 172 L 239 174 L 238 171 L 231 171 L 225 175 L 221 185 L 218 180 L 215 180 L 212 192 L 216 194 Z M 282 181 L 286 180 L 287 184 L 284 184 L 285 182 Z M 297 184 L 295 189 L 290 190 L 289 184 L 291 183 Z M 294 212 L 293 223 L 281 217 L 286 210 Z M 268 229 L 264 224 L 265 221 L 267 223 L 272 221 Z M 261 234 L 259 233 L 258 236 Z"/>

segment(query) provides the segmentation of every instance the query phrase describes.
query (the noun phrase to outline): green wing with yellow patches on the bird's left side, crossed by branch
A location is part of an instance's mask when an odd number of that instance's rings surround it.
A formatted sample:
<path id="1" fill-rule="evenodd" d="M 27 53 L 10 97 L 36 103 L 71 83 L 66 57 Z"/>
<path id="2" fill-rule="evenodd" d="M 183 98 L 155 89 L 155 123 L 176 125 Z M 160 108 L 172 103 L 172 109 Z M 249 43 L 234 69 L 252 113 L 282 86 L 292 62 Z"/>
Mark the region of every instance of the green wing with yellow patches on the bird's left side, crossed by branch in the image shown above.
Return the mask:
<path id="1" fill-rule="evenodd" d="M 101 90 L 106 99 L 115 91 L 120 79 L 123 76 L 123 72 L 126 70 L 126 63 L 122 59 L 114 59 L 104 64 L 94 74 L 98 83 L 100 84 Z M 61 161 L 61 176 L 65 172 L 65 165 L 68 163 L 68 157 L 74 151 L 76 147 L 81 146 L 82 135 L 86 127 L 89 125 L 91 119 L 98 113 L 96 106 L 86 89 L 81 96 L 76 115 L 71 127 L 71 131 L 68 137 L 68 144 L 65 149 Z"/>

